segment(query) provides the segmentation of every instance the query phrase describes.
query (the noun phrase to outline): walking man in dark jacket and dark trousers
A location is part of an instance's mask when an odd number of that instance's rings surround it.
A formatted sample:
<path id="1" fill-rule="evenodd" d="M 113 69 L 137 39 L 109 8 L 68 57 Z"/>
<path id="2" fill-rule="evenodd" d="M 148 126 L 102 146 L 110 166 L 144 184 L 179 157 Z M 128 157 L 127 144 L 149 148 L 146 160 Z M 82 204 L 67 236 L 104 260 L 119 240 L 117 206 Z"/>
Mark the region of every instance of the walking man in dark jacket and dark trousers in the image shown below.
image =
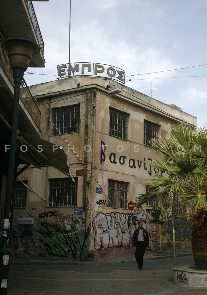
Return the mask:
<path id="1" fill-rule="evenodd" d="M 148 231 L 142 227 L 143 223 L 141 220 L 138 221 L 138 229 L 134 231 L 132 238 L 132 246 L 136 246 L 135 258 L 137 267 L 142 270 L 144 252 L 148 250 L 149 246 L 149 235 Z"/>

